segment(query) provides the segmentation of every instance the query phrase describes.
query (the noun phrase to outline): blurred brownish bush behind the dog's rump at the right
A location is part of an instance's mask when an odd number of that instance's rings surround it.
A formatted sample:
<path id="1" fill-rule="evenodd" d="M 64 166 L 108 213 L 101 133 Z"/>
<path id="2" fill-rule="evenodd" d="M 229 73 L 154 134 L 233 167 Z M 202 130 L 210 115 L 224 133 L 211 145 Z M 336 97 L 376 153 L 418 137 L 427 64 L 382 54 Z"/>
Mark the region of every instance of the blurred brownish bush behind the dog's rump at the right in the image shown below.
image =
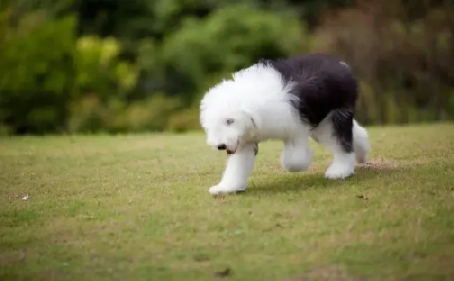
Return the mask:
<path id="1" fill-rule="evenodd" d="M 400 124 L 454 119 L 451 10 L 446 3 L 428 8 L 415 2 L 408 9 L 401 1 L 383 1 L 381 13 L 371 6 L 339 11 L 315 33 L 316 50 L 348 61 L 367 85 L 358 120 Z"/>

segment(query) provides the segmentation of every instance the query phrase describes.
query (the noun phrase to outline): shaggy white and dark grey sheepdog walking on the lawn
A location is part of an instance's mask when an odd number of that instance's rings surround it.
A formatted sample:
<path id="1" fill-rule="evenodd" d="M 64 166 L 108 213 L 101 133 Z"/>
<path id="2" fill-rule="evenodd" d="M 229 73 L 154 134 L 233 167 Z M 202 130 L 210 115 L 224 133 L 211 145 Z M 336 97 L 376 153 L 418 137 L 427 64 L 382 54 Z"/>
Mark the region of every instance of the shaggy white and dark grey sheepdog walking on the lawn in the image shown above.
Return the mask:
<path id="1" fill-rule="evenodd" d="M 261 60 L 212 87 L 200 102 L 207 144 L 228 153 L 213 195 L 246 190 L 258 143 L 281 139 L 281 165 L 300 172 L 311 163 L 309 137 L 332 153 L 327 179 L 345 179 L 370 151 L 353 119 L 358 85 L 349 66 L 328 54 Z"/>

